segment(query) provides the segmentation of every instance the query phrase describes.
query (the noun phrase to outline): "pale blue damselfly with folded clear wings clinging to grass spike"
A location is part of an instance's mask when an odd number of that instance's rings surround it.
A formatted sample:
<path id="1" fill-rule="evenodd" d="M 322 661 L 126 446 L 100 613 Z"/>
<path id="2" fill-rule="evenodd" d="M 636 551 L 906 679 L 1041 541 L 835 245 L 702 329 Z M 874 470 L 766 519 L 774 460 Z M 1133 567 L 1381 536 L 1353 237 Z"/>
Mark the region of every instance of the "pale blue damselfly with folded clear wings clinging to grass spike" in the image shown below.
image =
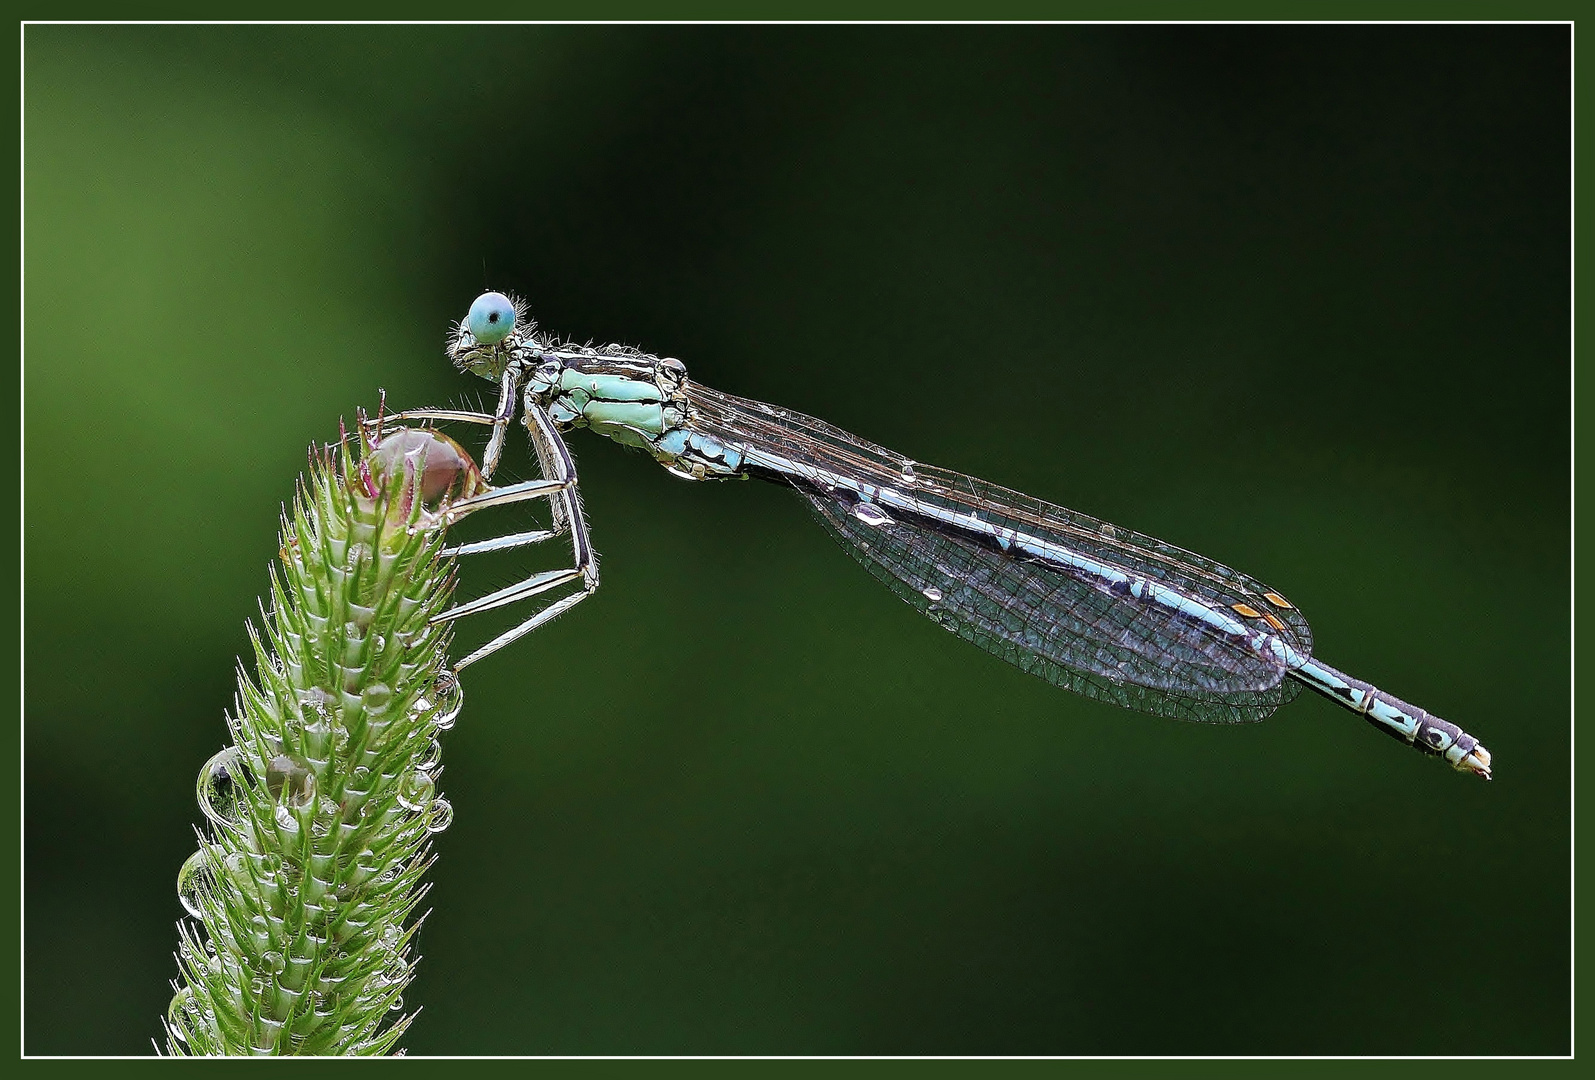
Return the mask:
<path id="1" fill-rule="evenodd" d="M 1050 683 L 1161 716 L 1255 721 L 1303 686 L 1464 772 L 1490 753 L 1431 716 L 1313 657 L 1306 619 L 1279 592 L 1211 558 L 1132 530 L 936 469 L 813 416 L 732 397 L 686 365 L 622 346 L 538 332 L 520 302 L 483 294 L 455 327 L 456 367 L 499 386 L 491 413 L 421 408 L 396 420 L 490 426 L 491 480 L 520 415 L 542 479 L 490 488 L 458 515 L 549 499 L 552 530 L 463 544 L 467 555 L 568 536 L 573 565 L 463 603 L 439 619 L 571 592 L 466 656 L 466 667 L 598 587 L 598 565 L 561 432 L 590 428 L 651 453 L 678 477 L 758 477 L 796 490 L 842 547 L 888 589 L 960 638 Z"/>

